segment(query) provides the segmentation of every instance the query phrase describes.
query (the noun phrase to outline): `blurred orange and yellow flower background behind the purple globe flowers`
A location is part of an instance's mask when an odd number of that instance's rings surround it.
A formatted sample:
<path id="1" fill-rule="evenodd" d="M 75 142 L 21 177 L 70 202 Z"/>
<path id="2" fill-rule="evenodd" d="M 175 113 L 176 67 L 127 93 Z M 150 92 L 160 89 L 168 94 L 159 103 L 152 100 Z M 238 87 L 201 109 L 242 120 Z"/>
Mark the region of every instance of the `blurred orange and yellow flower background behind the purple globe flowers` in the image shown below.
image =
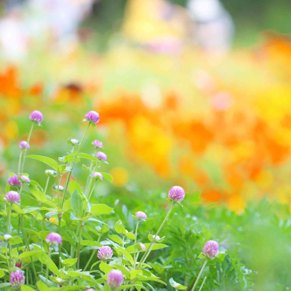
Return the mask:
<path id="1" fill-rule="evenodd" d="M 250 199 L 290 203 L 290 9 L 285 0 L 1 1 L 1 177 L 17 164 L 30 111 L 45 117 L 30 152 L 57 158 L 94 109 L 90 138 L 104 142 L 113 176 L 104 194 L 179 184 L 236 212 Z"/>

